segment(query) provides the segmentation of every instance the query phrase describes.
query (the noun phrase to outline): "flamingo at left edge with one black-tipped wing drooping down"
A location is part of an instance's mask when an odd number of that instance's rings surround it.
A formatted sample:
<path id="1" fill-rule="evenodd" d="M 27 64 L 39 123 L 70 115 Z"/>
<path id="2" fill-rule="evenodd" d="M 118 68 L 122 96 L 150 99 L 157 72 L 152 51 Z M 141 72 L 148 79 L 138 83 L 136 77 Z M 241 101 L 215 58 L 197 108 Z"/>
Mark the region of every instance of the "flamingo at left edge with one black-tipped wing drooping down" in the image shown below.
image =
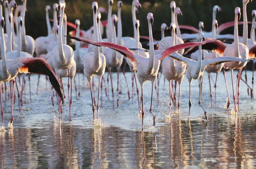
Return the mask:
<path id="1" fill-rule="evenodd" d="M 1 71 L 0 71 L 0 90 L 1 90 L 1 82 L 2 81 L 10 81 L 12 80 L 12 101 L 11 101 L 11 119 L 9 128 L 12 128 L 13 124 L 13 95 L 14 95 L 14 84 L 15 84 L 15 77 L 18 75 L 18 73 L 37 73 L 37 74 L 44 74 L 49 76 L 50 82 L 52 83 L 52 86 L 55 88 L 57 93 L 59 94 L 60 98 L 63 100 L 62 91 L 60 88 L 60 84 L 53 73 L 50 66 L 47 64 L 47 62 L 42 58 L 29 58 L 29 57 L 19 57 L 14 60 L 6 59 L 5 55 L 5 40 L 4 40 L 4 18 L 0 17 L 0 24 L 1 24 L 1 30 L 0 30 L 0 37 L 1 37 L 1 47 L 3 50 L 1 50 L 2 53 L 2 61 L 0 61 L 1 65 Z M 22 23 L 20 23 L 22 24 Z M 4 130 L 3 127 L 3 105 L 2 105 L 2 96 L 0 91 L 0 104 L 1 104 L 1 116 L 2 116 L 2 127 L 1 130 Z"/>

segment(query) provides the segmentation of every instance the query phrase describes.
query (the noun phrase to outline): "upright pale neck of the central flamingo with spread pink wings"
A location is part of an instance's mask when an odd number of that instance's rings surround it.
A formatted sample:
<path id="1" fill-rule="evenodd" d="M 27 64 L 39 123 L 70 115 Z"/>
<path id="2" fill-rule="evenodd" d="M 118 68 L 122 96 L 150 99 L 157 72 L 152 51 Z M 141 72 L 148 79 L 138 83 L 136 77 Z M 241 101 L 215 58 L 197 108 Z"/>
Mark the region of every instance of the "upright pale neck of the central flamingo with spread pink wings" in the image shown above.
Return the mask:
<path id="1" fill-rule="evenodd" d="M 153 43 L 153 35 L 152 35 L 152 25 L 150 21 L 148 21 L 149 24 L 149 66 L 148 66 L 148 73 L 152 74 L 152 71 L 154 71 L 154 43 Z"/>

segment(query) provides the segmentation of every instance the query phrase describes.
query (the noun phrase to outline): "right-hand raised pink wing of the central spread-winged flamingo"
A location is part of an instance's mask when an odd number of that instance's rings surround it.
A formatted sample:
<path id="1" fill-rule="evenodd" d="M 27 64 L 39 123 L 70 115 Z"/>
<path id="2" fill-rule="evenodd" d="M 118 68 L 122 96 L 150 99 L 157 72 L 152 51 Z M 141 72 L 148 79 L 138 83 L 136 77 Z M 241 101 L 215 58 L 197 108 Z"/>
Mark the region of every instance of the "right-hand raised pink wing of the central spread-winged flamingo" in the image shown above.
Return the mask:
<path id="1" fill-rule="evenodd" d="M 181 49 L 184 49 L 184 48 L 190 48 L 190 47 L 195 47 L 195 46 L 199 46 L 199 45 L 204 45 L 206 43 L 212 43 L 215 40 L 216 39 L 205 40 L 205 41 L 202 41 L 202 42 L 188 42 L 188 43 L 182 43 L 182 44 L 179 44 L 179 45 L 172 46 L 170 48 L 167 48 L 165 51 L 163 51 L 161 53 L 160 60 L 162 60 L 166 56 L 174 53 L 175 51 L 178 51 L 178 50 L 181 50 Z"/>

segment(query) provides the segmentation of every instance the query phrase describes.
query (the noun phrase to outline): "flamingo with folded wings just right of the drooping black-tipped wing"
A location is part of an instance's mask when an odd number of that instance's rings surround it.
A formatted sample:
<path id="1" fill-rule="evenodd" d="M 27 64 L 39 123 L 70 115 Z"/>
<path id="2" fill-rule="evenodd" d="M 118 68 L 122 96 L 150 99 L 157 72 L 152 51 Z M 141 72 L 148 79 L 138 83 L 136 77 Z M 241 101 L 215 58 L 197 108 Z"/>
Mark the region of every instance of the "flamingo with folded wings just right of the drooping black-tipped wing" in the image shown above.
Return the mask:
<path id="1" fill-rule="evenodd" d="M 75 62 L 73 49 L 69 45 L 63 44 L 63 40 L 62 40 L 65 5 L 66 5 L 65 1 L 60 0 L 58 5 L 58 8 L 60 9 L 60 25 L 58 29 L 58 39 L 57 39 L 58 45 L 55 46 L 51 51 L 52 64 L 54 66 L 55 72 L 58 74 L 58 77 L 60 77 L 59 76 L 60 69 L 68 69 L 68 76 L 69 76 L 71 66 L 74 64 L 73 62 Z M 69 93 L 69 85 L 68 85 L 68 93 Z M 60 115 L 60 112 L 59 112 L 59 115 Z M 60 122 L 60 116 L 59 116 L 59 122 Z"/>

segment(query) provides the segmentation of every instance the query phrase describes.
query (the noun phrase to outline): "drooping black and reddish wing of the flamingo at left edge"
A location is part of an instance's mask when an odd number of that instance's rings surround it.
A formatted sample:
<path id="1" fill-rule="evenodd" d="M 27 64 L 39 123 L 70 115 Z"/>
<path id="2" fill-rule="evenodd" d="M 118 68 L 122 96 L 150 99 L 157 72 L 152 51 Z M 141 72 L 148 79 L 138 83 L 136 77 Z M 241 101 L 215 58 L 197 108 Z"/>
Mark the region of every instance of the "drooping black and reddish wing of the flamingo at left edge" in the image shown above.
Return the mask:
<path id="1" fill-rule="evenodd" d="M 50 83 L 52 84 L 55 91 L 57 91 L 63 102 L 60 83 L 57 80 L 55 73 L 52 71 L 52 68 L 43 58 L 26 58 L 21 60 L 21 62 L 24 64 L 24 66 L 18 69 L 20 73 L 36 73 L 48 76 Z"/>

